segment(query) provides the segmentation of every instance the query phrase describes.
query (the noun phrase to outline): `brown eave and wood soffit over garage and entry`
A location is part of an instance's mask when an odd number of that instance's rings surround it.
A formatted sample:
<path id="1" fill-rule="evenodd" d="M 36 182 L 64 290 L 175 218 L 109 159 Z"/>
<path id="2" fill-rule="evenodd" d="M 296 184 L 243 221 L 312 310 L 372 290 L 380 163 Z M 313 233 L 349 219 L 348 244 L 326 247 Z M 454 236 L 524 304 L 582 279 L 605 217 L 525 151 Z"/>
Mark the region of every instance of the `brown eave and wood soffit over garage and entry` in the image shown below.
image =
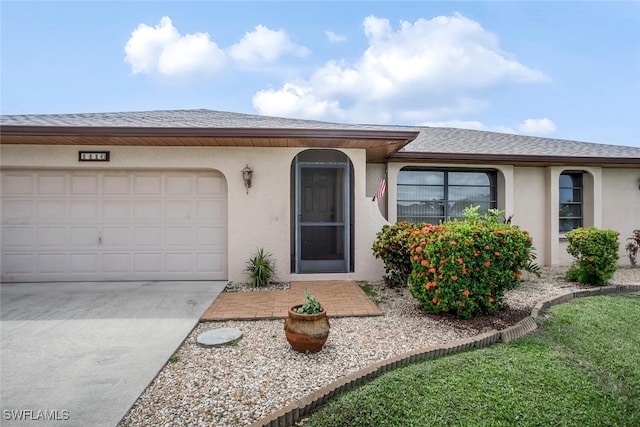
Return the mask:
<path id="1" fill-rule="evenodd" d="M 299 147 L 364 149 L 368 162 L 384 162 L 419 134 L 385 128 L 226 128 L 133 126 L 0 126 L 2 144 Z"/>

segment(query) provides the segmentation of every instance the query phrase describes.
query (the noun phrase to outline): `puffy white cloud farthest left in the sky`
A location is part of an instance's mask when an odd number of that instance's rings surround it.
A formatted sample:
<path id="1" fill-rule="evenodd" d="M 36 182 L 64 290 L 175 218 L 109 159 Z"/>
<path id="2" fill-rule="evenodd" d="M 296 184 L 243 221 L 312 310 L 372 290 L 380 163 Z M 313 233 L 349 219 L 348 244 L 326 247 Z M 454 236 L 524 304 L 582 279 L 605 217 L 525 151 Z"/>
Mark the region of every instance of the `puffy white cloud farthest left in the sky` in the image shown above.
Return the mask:
<path id="1" fill-rule="evenodd" d="M 125 45 L 133 74 L 162 77 L 211 75 L 226 63 L 224 52 L 207 33 L 182 36 L 165 16 L 155 27 L 140 24 Z"/>

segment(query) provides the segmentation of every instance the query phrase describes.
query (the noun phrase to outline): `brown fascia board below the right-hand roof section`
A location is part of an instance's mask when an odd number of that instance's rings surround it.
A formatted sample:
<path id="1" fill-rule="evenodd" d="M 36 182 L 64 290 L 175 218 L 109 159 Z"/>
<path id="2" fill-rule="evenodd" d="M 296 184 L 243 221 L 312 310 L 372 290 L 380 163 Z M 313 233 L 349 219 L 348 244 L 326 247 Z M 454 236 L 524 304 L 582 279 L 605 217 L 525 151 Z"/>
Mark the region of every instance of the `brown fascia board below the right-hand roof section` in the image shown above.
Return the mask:
<path id="1" fill-rule="evenodd" d="M 640 157 L 553 156 L 475 153 L 424 153 L 399 151 L 389 157 L 393 162 L 494 163 L 515 166 L 600 166 L 640 167 Z"/>

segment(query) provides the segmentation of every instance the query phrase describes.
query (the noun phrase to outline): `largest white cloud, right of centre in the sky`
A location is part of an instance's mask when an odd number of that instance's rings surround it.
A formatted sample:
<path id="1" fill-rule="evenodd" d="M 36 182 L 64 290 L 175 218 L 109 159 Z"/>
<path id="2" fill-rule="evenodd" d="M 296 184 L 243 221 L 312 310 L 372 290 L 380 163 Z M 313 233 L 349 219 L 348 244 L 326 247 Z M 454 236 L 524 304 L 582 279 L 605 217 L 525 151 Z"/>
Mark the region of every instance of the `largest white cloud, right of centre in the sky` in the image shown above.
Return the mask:
<path id="1" fill-rule="evenodd" d="M 297 82 L 298 91 L 291 92 L 286 83 L 268 91 L 269 96 L 277 98 L 282 92 L 288 99 L 297 97 L 297 102 L 288 103 L 288 115 L 296 117 L 316 111 L 310 103 L 318 102 L 336 106 L 327 113 L 339 112 L 350 121 L 372 110 L 377 111 L 376 118 L 396 122 L 409 117 L 447 120 L 454 117 L 443 114 L 446 110 L 472 114 L 484 108 L 486 102 L 474 98 L 486 89 L 549 80 L 502 52 L 495 34 L 460 14 L 402 21 L 395 30 L 387 19 L 369 16 L 363 31 L 369 46 L 355 62 L 329 61 L 306 81 Z M 260 102 L 264 96 L 262 91 L 254 97 L 260 113 L 281 111 L 278 105 Z"/>

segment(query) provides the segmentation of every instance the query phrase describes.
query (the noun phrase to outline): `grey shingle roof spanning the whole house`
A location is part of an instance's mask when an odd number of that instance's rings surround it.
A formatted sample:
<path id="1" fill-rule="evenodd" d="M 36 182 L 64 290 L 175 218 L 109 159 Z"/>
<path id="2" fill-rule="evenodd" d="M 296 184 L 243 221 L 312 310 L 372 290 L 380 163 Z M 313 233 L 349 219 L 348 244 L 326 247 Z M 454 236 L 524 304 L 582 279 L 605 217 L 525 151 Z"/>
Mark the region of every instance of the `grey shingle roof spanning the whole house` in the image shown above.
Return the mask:
<path id="1" fill-rule="evenodd" d="M 214 110 L 3 115 L 2 126 L 419 131 L 400 153 L 640 159 L 640 148 L 469 129 L 330 123 Z"/>

